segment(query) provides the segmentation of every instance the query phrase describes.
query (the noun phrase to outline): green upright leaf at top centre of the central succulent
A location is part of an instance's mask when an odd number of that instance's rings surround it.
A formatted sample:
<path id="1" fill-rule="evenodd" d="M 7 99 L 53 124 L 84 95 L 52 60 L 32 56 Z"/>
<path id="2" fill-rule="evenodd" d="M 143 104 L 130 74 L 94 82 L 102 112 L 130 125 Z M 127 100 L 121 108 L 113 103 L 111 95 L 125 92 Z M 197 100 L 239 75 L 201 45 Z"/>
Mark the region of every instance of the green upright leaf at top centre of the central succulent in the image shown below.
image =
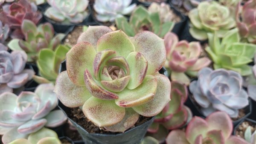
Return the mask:
<path id="1" fill-rule="evenodd" d="M 130 38 L 122 32 L 122 30 L 110 32 L 100 37 L 97 42 L 97 52 L 105 49 L 112 49 L 116 51 L 117 55 L 124 58 L 131 52 L 135 51 L 135 47 Z"/>

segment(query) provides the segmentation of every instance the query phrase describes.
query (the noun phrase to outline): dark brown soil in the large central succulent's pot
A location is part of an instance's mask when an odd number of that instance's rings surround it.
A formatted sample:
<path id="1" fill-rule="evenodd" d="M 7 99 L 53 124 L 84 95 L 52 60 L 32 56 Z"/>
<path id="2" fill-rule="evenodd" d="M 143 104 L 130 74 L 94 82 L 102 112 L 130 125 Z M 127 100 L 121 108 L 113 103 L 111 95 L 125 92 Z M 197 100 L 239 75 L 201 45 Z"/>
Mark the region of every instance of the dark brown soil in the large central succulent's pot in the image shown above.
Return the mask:
<path id="1" fill-rule="evenodd" d="M 122 132 L 109 132 L 105 131 L 104 127 L 97 127 L 95 124 L 93 124 L 91 121 L 89 121 L 81 109 L 77 108 L 69 108 L 67 111 L 67 116 L 71 118 L 73 121 L 75 121 L 77 124 L 79 124 L 81 127 L 84 128 L 89 133 L 100 133 L 100 134 L 119 134 Z M 134 125 L 134 127 L 139 126 L 140 124 L 145 123 L 146 121 L 150 120 L 152 117 L 144 117 L 140 115 L 138 121 Z M 133 127 L 131 127 L 133 128 Z M 131 129 L 130 128 L 130 129 Z M 128 129 L 129 130 L 129 129 Z"/>

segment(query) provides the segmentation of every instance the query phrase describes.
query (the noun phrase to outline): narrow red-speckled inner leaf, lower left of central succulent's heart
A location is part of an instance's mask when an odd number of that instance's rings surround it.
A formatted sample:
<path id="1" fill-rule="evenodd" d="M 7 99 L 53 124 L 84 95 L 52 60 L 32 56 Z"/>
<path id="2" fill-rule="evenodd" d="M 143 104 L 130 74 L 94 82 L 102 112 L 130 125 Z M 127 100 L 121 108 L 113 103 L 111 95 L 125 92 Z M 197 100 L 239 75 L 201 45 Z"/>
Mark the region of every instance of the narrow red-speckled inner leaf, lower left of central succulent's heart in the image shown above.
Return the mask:
<path id="1" fill-rule="evenodd" d="M 103 89 L 101 86 L 96 84 L 96 82 L 93 80 L 92 75 L 88 71 L 88 69 L 85 69 L 84 72 L 84 83 L 91 93 L 96 98 L 105 99 L 105 100 L 111 100 L 111 99 L 117 99 L 118 95 L 116 95 L 113 92 L 110 92 L 108 90 Z"/>

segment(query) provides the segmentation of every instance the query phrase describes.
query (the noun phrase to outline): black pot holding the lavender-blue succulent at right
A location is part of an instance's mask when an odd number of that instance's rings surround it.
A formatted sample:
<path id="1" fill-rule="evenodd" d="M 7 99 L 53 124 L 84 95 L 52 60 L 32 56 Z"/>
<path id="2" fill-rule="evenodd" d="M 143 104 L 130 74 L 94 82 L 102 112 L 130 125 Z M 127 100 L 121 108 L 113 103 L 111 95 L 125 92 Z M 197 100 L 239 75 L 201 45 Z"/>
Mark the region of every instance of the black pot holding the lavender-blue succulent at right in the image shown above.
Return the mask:
<path id="1" fill-rule="evenodd" d="M 196 103 L 196 101 L 194 100 L 193 95 L 191 93 L 189 93 L 189 98 L 185 102 L 185 105 L 191 109 L 193 115 L 200 116 L 202 118 L 206 118 L 206 116 L 204 116 L 204 114 L 201 112 L 200 106 Z M 241 121 L 244 121 L 244 119 L 247 118 L 251 114 L 252 103 L 251 103 L 250 99 L 249 99 L 249 105 L 244 107 L 243 109 L 244 109 L 245 115 L 243 117 L 239 118 L 238 120 L 235 120 L 235 121 L 232 120 L 234 127 L 237 124 L 239 124 Z"/>

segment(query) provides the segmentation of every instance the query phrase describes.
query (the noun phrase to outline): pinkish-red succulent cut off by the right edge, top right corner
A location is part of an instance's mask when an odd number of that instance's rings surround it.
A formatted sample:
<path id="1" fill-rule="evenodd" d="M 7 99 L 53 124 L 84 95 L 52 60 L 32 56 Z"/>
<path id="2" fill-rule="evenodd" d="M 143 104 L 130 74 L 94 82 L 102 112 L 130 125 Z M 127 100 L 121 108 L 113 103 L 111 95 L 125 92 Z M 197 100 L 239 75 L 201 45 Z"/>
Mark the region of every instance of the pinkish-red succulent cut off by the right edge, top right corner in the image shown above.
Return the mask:
<path id="1" fill-rule="evenodd" d="M 239 14 L 239 9 L 242 9 L 241 14 Z M 250 43 L 256 44 L 256 1 L 249 0 L 244 6 L 239 4 L 236 10 L 236 24 L 239 29 L 239 34 L 241 37 L 247 39 Z"/>

